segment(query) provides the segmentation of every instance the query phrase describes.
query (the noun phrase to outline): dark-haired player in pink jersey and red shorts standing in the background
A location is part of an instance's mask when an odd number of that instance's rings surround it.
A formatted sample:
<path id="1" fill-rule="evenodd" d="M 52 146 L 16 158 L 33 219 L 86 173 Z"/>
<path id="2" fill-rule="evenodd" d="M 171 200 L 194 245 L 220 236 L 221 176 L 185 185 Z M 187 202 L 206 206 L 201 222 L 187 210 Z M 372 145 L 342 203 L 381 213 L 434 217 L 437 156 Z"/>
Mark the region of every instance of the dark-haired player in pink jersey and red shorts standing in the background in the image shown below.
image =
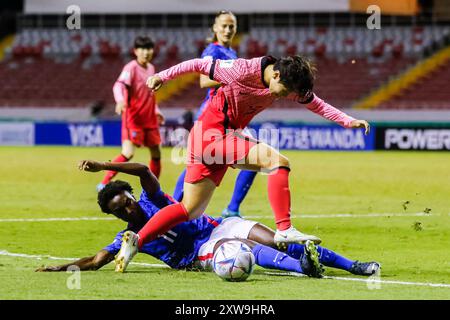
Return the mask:
<path id="1" fill-rule="evenodd" d="M 116 101 L 116 113 L 122 115 L 122 152 L 113 162 L 127 162 L 133 156 L 136 147 L 146 146 L 150 150 L 150 169 L 156 177 L 161 172 L 161 137 L 159 125 L 164 116 L 159 110 L 155 95 L 148 90 L 145 81 L 155 74 L 150 63 L 153 58 L 153 41 L 139 36 L 134 41 L 136 59 L 129 62 L 114 83 L 113 93 Z M 100 191 L 117 174 L 107 171 L 101 183 Z"/>

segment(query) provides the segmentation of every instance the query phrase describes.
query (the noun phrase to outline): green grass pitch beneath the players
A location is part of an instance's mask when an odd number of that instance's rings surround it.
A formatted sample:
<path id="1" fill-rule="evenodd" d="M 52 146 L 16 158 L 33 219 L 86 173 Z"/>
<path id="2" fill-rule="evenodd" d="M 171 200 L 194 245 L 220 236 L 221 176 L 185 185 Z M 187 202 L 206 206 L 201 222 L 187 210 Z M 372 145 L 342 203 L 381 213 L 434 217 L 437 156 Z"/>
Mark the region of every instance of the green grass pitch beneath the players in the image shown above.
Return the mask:
<path id="1" fill-rule="evenodd" d="M 78 160 L 109 160 L 119 148 L 0 147 L 0 219 L 107 217 L 96 204 L 103 173 L 76 168 Z M 323 245 L 352 259 L 382 263 L 381 281 L 450 284 L 450 155 L 414 152 L 290 152 L 293 222 L 318 235 Z M 182 166 L 163 150 L 161 185 L 173 191 Z M 146 150 L 133 161 L 147 163 Z M 217 216 L 231 196 L 237 171 L 230 169 L 207 210 Z M 135 177 L 119 174 L 140 194 Z M 274 227 L 267 182 L 257 176 L 241 207 L 244 215 Z M 408 201 L 408 203 L 407 203 Z M 428 211 L 429 215 L 411 216 Z M 304 218 L 315 214 L 398 214 L 364 218 Z M 111 216 L 109 216 L 111 217 Z M 28 255 L 85 257 L 109 244 L 125 227 L 111 221 L 0 222 L 0 250 Z M 419 228 L 414 226 L 420 226 Z M 133 261 L 157 263 L 147 255 Z M 63 260 L 0 255 L 2 299 L 449 299 L 449 287 L 266 274 L 257 268 L 243 283 L 214 273 L 130 265 L 115 274 L 113 263 L 81 273 L 81 289 L 69 290 L 71 274 L 35 273 Z M 276 271 L 275 271 L 276 272 Z M 360 278 L 326 268 L 327 276 Z M 373 286 L 372 286 L 373 287 Z M 282 290 L 281 290 L 282 288 Z"/>

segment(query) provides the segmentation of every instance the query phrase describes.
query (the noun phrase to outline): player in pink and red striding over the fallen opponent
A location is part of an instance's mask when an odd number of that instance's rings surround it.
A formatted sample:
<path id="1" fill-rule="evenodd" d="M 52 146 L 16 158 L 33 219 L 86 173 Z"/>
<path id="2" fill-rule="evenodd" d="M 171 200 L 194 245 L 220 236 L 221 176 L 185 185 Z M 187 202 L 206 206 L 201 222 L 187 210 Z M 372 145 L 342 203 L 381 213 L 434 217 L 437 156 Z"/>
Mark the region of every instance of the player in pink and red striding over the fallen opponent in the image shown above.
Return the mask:
<path id="1" fill-rule="evenodd" d="M 135 234 L 126 232 L 116 258 L 126 268 L 129 261 L 148 243 L 181 222 L 198 217 L 207 207 L 215 188 L 228 167 L 268 173 L 268 198 L 275 215 L 278 245 L 320 243 L 291 225 L 289 160 L 269 145 L 242 133 L 259 112 L 276 99 L 287 98 L 346 128 L 364 128 L 365 120 L 354 119 L 317 97 L 312 89 L 315 68 L 301 56 L 275 59 L 193 59 L 164 70 L 147 80 L 152 90 L 181 74 L 198 72 L 220 82 L 203 115 L 189 134 L 188 163 L 182 202 L 163 208 Z"/>

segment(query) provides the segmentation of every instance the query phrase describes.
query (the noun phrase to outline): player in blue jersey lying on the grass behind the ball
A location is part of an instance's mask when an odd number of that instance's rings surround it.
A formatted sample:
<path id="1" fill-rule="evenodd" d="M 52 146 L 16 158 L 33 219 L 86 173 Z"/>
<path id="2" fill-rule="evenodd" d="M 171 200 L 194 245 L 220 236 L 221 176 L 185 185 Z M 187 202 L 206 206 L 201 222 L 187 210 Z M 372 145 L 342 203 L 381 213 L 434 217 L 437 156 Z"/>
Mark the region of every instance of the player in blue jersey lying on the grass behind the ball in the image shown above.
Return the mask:
<path id="1" fill-rule="evenodd" d="M 140 178 L 143 190 L 139 201 L 132 195 L 131 186 L 124 181 L 110 182 L 98 194 L 101 210 L 128 222 L 126 230 L 139 230 L 161 208 L 175 202 L 171 196 L 164 194 L 157 178 L 143 164 L 83 160 L 79 163 L 79 168 L 90 172 L 115 170 Z M 119 232 L 113 243 L 95 256 L 64 265 L 42 267 L 36 271 L 65 271 L 71 265 L 78 266 L 80 270 L 97 270 L 114 259 L 121 249 L 122 236 L 126 230 Z M 357 275 L 372 275 L 380 268 L 377 262 L 352 261 L 331 250 L 315 246 L 311 241 L 307 241 L 305 245 L 289 244 L 286 251 L 282 252 L 275 249 L 273 236 L 273 230 L 255 221 L 239 217 L 215 219 L 202 214 L 146 243 L 140 252 L 150 254 L 174 269 L 210 270 L 214 250 L 225 241 L 237 238 L 250 246 L 256 264 L 264 268 L 299 272 L 316 278 L 322 276 L 321 264 Z"/>

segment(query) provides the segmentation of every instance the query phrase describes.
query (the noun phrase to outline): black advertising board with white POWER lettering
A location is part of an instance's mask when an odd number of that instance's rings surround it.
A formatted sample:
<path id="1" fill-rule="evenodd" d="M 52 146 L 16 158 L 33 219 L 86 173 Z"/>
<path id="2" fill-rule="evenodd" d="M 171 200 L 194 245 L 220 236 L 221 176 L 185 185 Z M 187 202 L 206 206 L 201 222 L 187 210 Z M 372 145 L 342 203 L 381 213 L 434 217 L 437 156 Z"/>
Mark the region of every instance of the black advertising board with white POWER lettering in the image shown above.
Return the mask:
<path id="1" fill-rule="evenodd" d="M 376 133 L 376 149 L 448 151 L 450 124 L 379 126 Z"/>

